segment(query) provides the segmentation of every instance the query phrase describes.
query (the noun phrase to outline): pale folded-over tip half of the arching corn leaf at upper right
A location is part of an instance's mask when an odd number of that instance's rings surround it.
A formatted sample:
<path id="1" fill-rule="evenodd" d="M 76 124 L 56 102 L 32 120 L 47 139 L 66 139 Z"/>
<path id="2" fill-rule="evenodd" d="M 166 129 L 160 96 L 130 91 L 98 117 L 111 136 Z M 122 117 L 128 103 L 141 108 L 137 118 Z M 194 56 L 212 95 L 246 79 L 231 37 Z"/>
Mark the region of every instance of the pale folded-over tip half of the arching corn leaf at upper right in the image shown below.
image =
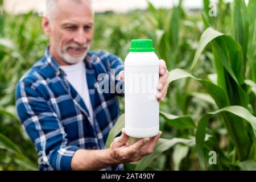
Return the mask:
<path id="1" fill-rule="evenodd" d="M 197 63 L 197 61 L 199 60 L 199 57 L 201 55 L 201 53 L 203 52 L 204 48 L 215 38 L 222 36 L 224 34 L 222 34 L 221 32 L 218 32 L 216 30 L 214 30 L 213 28 L 209 27 L 207 28 L 204 32 L 203 35 L 200 38 L 199 41 L 199 46 L 196 49 L 196 53 L 195 53 L 195 57 L 193 59 L 193 63 L 191 66 L 191 69 L 193 69 Z"/>

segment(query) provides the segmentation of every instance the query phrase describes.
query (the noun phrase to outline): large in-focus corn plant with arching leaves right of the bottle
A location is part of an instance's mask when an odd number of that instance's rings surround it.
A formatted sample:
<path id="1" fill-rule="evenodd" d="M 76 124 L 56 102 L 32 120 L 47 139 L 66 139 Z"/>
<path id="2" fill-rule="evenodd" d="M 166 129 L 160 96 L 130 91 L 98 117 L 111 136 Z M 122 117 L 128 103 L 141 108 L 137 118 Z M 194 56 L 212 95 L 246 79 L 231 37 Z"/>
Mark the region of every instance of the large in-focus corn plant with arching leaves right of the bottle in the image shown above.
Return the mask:
<path id="1" fill-rule="evenodd" d="M 201 169 L 205 169 L 206 149 L 206 151 L 217 151 L 218 169 L 255 170 L 256 117 L 254 115 L 256 113 L 254 106 L 256 84 L 249 79 L 250 77 L 246 78 L 246 72 L 251 72 L 251 68 L 246 67 L 247 64 L 251 64 L 247 63 L 247 55 L 255 56 L 255 49 L 247 49 L 247 45 L 252 43 L 248 41 L 248 35 L 254 38 L 255 33 L 252 31 L 255 30 L 255 23 L 249 24 L 247 15 L 247 12 L 252 11 L 253 7 L 255 7 L 255 1 L 249 1 L 247 7 L 243 1 L 235 0 L 233 2 L 232 36 L 214 30 L 210 27 L 208 19 L 202 14 L 206 30 L 201 35 L 191 70 L 173 69 L 168 81 L 172 83 L 175 80 L 188 77 L 198 81 L 203 86 L 204 92 L 207 93 L 207 95 L 203 95 L 207 97 L 201 98 L 210 101 L 218 109 L 205 113 L 201 118 L 196 119 L 197 125 L 194 124 L 192 115 L 177 116 L 161 111 L 160 115 L 165 118 L 167 125 L 178 129 L 193 129 L 196 131 L 195 138 L 188 136 L 187 138 L 160 139 L 154 153 L 143 158 L 135 169 L 146 168 L 162 152 L 177 143 L 183 143 L 189 147 L 195 144 Z M 250 34 L 249 30 L 251 30 Z M 212 61 L 216 73 L 209 78 L 198 78 L 193 72 L 195 72 L 201 53 L 208 44 L 212 48 Z M 248 50 L 253 51 L 253 53 L 248 53 Z M 252 61 L 254 62 L 255 59 Z M 251 96 L 252 94 L 253 96 Z M 254 100 L 250 100 L 251 97 L 254 97 Z M 228 131 L 230 142 L 225 151 L 219 146 L 216 132 L 207 129 L 211 118 L 220 119 L 222 126 Z M 117 125 L 119 128 L 115 128 L 116 132 L 110 133 L 106 146 L 124 126 L 123 122 L 121 119 Z"/>

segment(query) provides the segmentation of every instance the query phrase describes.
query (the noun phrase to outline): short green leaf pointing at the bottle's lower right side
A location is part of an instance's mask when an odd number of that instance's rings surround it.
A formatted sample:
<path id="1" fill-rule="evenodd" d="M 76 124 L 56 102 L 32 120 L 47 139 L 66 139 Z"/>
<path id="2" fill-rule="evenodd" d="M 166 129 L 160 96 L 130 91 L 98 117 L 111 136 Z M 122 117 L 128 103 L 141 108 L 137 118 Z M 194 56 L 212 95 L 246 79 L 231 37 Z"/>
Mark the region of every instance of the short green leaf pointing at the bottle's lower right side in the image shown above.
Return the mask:
<path id="1" fill-rule="evenodd" d="M 164 113 L 160 111 L 160 115 L 162 115 L 168 125 L 173 127 L 177 127 L 179 129 L 195 129 L 196 125 L 193 122 L 192 118 L 189 115 L 185 116 L 177 116 L 168 113 Z"/>

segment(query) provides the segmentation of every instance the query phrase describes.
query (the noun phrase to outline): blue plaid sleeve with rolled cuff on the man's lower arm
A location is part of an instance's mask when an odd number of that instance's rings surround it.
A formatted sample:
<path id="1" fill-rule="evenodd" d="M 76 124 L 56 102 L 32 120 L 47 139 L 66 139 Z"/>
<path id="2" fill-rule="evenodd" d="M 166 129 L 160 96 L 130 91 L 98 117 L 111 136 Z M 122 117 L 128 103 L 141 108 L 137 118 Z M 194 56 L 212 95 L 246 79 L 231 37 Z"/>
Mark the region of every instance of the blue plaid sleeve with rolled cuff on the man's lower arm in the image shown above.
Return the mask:
<path id="1" fill-rule="evenodd" d="M 64 127 L 49 103 L 26 81 L 16 86 L 16 111 L 23 128 L 53 170 L 71 170 L 77 146 L 68 145 Z"/>

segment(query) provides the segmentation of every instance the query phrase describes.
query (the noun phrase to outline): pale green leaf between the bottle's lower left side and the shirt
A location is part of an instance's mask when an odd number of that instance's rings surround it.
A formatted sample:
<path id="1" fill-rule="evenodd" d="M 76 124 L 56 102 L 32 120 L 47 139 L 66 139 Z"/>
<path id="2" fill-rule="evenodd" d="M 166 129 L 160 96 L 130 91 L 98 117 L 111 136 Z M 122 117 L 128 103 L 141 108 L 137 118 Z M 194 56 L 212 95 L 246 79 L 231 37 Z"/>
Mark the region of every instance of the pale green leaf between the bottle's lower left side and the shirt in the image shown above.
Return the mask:
<path id="1" fill-rule="evenodd" d="M 108 139 L 106 140 L 105 148 L 109 148 L 110 144 L 117 134 L 119 134 L 122 128 L 125 127 L 125 114 L 120 115 L 115 123 L 114 127 L 109 131 Z"/>

